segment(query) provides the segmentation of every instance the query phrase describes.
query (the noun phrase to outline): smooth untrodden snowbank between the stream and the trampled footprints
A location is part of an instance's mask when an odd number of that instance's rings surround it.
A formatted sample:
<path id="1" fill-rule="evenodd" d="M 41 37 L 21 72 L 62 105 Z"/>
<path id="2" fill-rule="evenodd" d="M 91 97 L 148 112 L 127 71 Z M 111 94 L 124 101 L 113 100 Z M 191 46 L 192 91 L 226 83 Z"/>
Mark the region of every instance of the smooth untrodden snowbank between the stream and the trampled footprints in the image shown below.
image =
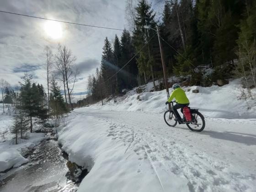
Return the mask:
<path id="1" fill-rule="evenodd" d="M 151 174 L 152 165 L 138 165 L 138 156 L 133 150 L 128 150 L 129 145 L 117 143 L 115 137 L 112 138 L 114 134 L 107 133 L 110 122 L 94 115 L 87 116 L 83 110 L 72 112 L 72 121 L 59 133 L 59 142 L 68 153 L 69 160 L 90 171 L 78 192 L 158 192 L 162 190 L 162 184 L 173 191 L 186 191 L 187 186 L 180 185 L 184 180 L 182 177 L 178 184 L 170 183 L 170 178 L 166 177 L 160 185 L 155 175 Z M 110 127 L 115 128 L 115 124 Z M 140 174 L 139 170 L 146 173 Z M 163 171 L 161 177 L 165 175 Z"/>

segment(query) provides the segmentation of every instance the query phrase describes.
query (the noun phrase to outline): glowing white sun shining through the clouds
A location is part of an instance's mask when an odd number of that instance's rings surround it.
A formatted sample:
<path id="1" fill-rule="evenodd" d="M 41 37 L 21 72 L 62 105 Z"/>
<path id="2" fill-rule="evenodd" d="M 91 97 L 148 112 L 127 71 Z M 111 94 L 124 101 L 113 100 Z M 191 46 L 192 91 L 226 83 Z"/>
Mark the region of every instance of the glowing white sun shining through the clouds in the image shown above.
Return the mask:
<path id="1" fill-rule="evenodd" d="M 58 21 L 47 21 L 44 24 L 44 31 L 53 39 L 61 38 L 63 33 L 62 27 Z"/>

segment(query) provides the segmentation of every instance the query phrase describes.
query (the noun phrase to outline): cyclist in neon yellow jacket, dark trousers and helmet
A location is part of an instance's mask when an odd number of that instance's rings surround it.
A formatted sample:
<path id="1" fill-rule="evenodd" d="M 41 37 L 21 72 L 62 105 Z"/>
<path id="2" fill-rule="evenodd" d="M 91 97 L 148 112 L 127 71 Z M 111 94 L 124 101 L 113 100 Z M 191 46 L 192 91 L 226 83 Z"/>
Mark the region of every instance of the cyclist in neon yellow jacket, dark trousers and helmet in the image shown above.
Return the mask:
<path id="1" fill-rule="evenodd" d="M 172 107 L 173 112 L 175 113 L 176 118 L 175 121 L 181 122 L 181 116 L 178 113 L 177 109 L 189 105 L 189 100 L 186 96 L 185 91 L 183 91 L 179 84 L 175 83 L 172 85 L 173 91 L 171 96 L 169 97 L 168 101 L 165 102 L 165 105 L 169 104 L 174 98 L 176 99 L 176 105 Z M 181 109 L 182 112 L 182 109 Z M 183 113 L 183 112 L 182 112 Z"/>

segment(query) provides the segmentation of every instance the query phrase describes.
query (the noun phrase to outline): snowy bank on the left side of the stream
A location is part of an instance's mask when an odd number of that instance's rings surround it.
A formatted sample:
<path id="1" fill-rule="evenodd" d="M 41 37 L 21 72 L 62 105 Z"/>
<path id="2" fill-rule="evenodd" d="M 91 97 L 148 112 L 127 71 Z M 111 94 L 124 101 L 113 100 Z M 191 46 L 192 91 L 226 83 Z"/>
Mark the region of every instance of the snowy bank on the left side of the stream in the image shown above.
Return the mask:
<path id="1" fill-rule="evenodd" d="M 28 139 L 18 139 L 18 144 L 15 144 L 15 139 L 0 143 L 0 171 L 27 163 L 28 160 L 23 156 L 41 141 L 49 139 L 44 133 L 27 133 L 27 137 Z"/>

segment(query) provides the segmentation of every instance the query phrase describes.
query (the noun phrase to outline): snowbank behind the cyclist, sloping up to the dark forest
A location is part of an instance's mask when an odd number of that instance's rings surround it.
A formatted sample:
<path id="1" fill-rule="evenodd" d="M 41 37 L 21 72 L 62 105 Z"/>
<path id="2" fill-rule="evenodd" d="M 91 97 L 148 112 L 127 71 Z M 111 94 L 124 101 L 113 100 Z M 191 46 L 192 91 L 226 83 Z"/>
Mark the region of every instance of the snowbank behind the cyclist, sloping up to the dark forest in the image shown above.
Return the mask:
<path id="1" fill-rule="evenodd" d="M 117 97 L 104 103 L 101 102 L 91 105 L 92 109 L 114 110 L 114 111 L 144 111 L 162 113 L 165 111 L 165 101 L 167 100 L 166 91 L 148 92 L 151 90 L 152 82 L 144 86 L 143 93 L 136 93 L 134 88 L 128 91 L 125 96 Z M 240 99 L 240 81 L 230 81 L 228 85 L 219 87 L 182 87 L 186 91 L 190 100 L 190 107 L 198 108 L 204 116 L 214 118 L 256 118 L 256 100 Z M 193 90 L 199 93 L 193 93 Z M 171 94 L 171 89 L 169 89 Z M 256 90 L 254 90 L 256 91 Z"/>

